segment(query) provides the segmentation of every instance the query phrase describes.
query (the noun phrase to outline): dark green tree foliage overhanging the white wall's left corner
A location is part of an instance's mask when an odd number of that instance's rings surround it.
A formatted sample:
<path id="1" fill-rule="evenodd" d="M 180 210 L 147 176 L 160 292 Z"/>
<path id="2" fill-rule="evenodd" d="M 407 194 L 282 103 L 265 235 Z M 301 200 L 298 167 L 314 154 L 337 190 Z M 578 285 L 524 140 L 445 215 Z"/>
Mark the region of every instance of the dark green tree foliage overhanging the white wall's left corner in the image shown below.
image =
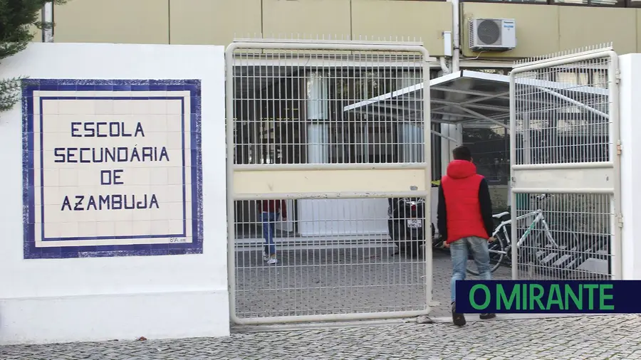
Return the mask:
<path id="1" fill-rule="evenodd" d="M 33 28 L 43 31 L 53 23 L 42 21 L 40 10 L 46 0 L 0 0 L 0 61 L 23 51 L 33 40 Z M 66 0 L 54 0 L 63 4 Z M 36 40 L 37 41 L 37 40 Z M 0 63 L 1 66 L 1 63 Z M 21 78 L 0 79 L 0 111 L 11 109 L 20 98 Z"/>

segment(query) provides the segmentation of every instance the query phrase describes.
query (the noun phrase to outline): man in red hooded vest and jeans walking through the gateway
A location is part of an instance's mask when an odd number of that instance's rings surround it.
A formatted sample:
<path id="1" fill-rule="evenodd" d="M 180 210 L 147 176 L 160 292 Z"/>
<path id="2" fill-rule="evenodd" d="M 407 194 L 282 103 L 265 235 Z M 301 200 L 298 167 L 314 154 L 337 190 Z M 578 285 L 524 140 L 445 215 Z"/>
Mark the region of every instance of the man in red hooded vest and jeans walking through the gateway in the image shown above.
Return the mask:
<path id="1" fill-rule="evenodd" d="M 471 152 L 467 147 L 457 147 L 452 155 L 454 161 L 447 165 L 447 175 L 439 186 L 437 223 L 452 256 L 452 319 L 454 324 L 463 326 L 465 317 L 457 312 L 456 283 L 465 280 L 468 253 L 474 256 L 481 279 L 491 280 L 487 243 L 494 224 L 487 181 L 476 174 Z M 496 314 L 480 317 L 491 319 Z"/>

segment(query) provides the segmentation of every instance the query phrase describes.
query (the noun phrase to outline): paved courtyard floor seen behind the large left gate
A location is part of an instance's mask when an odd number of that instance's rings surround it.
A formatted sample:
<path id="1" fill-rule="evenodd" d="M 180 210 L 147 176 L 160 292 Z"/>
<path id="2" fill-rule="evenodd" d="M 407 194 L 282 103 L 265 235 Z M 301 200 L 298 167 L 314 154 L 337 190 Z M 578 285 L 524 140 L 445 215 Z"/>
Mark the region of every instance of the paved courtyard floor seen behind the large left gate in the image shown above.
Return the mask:
<path id="1" fill-rule="evenodd" d="M 260 248 L 236 252 L 236 309 L 240 317 L 397 312 L 424 309 L 425 262 L 395 254 L 391 244 L 343 248 L 289 248 L 266 265 Z M 449 253 L 434 250 L 432 316 L 449 314 Z M 471 261 L 470 261 L 471 263 Z M 468 275 L 474 278 L 472 275 Z M 495 279 L 510 279 L 499 267 Z"/>

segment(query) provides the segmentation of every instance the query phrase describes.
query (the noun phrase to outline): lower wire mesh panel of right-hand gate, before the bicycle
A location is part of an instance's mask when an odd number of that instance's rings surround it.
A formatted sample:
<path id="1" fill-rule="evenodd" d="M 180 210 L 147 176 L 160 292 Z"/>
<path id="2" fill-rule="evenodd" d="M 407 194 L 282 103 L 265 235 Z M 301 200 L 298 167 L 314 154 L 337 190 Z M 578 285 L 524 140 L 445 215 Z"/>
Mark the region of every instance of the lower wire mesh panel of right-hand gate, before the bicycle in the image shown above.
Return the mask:
<path id="1" fill-rule="evenodd" d="M 610 278 L 610 195 L 525 195 L 534 210 L 518 209 L 519 278 Z"/>

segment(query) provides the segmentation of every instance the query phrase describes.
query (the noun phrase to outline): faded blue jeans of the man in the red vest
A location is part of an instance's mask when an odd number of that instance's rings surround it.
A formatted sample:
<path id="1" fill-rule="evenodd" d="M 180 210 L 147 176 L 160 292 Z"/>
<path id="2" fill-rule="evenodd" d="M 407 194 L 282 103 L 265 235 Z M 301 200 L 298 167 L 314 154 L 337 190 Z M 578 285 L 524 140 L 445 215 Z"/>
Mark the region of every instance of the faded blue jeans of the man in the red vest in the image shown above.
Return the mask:
<path id="1" fill-rule="evenodd" d="M 452 302 L 457 299 L 457 281 L 465 280 L 468 251 L 471 252 L 471 255 L 474 257 L 474 263 L 476 263 L 476 268 L 479 269 L 481 279 L 492 280 L 486 239 L 471 236 L 450 243 L 449 253 L 452 256 L 452 281 L 449 282 L 449 287 L 452 291 Z"/>

